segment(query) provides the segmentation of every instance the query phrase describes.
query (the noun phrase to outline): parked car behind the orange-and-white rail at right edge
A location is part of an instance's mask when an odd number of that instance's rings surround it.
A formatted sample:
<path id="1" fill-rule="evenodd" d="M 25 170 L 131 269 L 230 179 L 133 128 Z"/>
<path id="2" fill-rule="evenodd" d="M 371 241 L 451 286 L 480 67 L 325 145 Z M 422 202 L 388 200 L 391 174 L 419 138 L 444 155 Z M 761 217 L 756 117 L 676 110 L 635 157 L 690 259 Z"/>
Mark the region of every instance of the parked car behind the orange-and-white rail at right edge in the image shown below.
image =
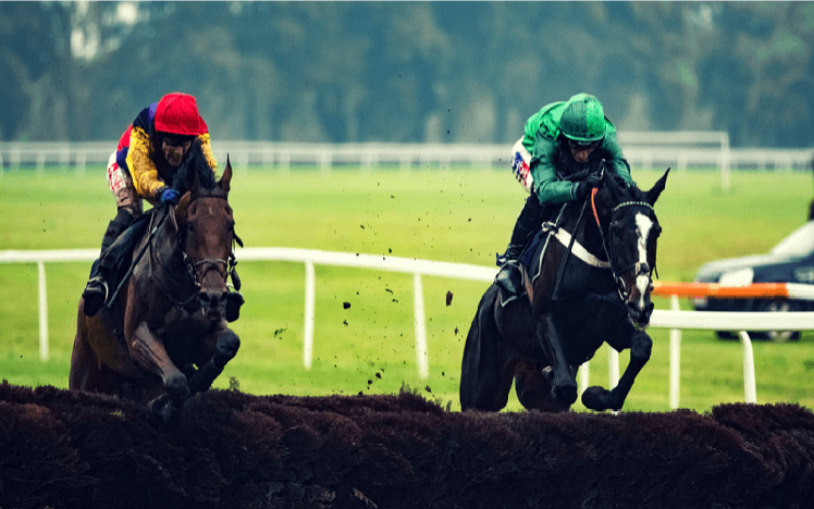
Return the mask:
<path id="1" fill-rule="evenodd" d="M 730 258 L 706 263 L 695 274 L 696 283 L 717 283 L 721 286 L 745 286 L 752 283 L 814 284 L 814 221 L 810 221 L 784 238 L 767 254 Z M 695 298 L 699 311 L 814 311 L 814 301 L 782 298 L 713 299 Z M 718 332 L 718 337 L 733 338 L 731 333 Z M 794 331 L 750 333 L 750 336 L 773 342 L 800 339 Z"/>

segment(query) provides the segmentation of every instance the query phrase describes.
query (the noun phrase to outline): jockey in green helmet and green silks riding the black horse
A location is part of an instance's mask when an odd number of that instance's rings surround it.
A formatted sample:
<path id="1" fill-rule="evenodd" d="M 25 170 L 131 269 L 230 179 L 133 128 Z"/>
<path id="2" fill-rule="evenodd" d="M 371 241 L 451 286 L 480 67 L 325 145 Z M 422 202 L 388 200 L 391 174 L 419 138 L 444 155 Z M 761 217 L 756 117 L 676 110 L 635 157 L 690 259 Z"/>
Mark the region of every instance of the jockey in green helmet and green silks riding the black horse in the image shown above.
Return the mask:
<path id="1" fill-rule="evenodd" d="M 553 102 L 532 115 L 526 122 L 523 136 L 511 149 L 510 161 L 515 177 L 531 196 L 520 211 L 506 252 L 497 257 L 501 271 L 495 283 L 504 303 L 526 290 L 518 259 L 540 228 L 545 206 L 583 201 L 600 185 L 593 175 L 582 182 L 564 181 L 560 175 L 597 170 L 604 162 L 610 172 L 633 185 L 616 127 L 605 116 L 599 99 L 589 94 Z"/>

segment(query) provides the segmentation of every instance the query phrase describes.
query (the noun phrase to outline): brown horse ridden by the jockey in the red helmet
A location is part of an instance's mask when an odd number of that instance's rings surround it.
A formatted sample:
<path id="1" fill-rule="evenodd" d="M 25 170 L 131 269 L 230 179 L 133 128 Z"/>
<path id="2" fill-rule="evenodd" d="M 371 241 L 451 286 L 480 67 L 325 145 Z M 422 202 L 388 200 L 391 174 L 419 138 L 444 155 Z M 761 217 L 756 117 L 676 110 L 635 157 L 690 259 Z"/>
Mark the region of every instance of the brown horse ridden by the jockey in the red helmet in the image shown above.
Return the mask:
<path id="1" fill-rule="evenodd" d="M 239 243 L 229 204 L 232 165 L 215 182 L 203 161 L 198 153 L 178 169 L 176 207 L 140 218 L 149 228 L 135 243 L 132 273 L 113 300 L 92 318 L 79 301 L 71 389 L 134 398 L 170 421 L 236 355 L 240 342 L 226 320 L 233 295 L 226 280 L 231 274 L 235 282 Z"/>

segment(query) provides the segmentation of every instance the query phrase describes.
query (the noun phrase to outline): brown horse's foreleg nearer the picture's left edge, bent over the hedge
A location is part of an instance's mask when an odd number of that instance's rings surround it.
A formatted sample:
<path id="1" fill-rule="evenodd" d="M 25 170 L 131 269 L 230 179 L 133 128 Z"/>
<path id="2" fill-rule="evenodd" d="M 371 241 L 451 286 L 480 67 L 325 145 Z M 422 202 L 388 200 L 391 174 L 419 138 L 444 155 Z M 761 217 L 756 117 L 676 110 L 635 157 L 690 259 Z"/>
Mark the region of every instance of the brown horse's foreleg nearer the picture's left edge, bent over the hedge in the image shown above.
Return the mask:
<path id="1" fill-rule="evenodd" d="M 138 365 L 159 377 L 164 385 L 164 399 L 170 400 L 175 409 L 180 409 L 189 398 L 189 384 L 186 375 L 172 362 L 161 340 L 150 331 L 146 322 L 141 322 L 130 338 L 133 360 Z M 155 409 L 159 401 L 150 404 Z"/>

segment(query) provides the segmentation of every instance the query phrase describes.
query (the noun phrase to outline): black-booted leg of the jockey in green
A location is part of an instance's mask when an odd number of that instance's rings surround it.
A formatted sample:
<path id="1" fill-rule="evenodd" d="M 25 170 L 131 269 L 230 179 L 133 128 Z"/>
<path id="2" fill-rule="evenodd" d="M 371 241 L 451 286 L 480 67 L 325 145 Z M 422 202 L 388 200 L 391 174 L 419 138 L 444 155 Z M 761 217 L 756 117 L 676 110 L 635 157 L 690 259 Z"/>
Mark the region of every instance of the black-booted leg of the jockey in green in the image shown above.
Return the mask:
<path id="1" fill-rule="evenodd" d="M 515 223 L 515 229 L 511 232 L 511 239 L 506 248 L 506 252 L 502 257 L 497 257 L 501 270 L 495 276 L 495 284 L 502 289 L 504 302 L 526 293 L 519 259 L 526 244 L 540 226 L 540 214 L 542 211 L 543 206 L 540 204 L 536 196 L 529 196 L 520 211 L 520 215 L 517 218 L 517 223 Z"/>

